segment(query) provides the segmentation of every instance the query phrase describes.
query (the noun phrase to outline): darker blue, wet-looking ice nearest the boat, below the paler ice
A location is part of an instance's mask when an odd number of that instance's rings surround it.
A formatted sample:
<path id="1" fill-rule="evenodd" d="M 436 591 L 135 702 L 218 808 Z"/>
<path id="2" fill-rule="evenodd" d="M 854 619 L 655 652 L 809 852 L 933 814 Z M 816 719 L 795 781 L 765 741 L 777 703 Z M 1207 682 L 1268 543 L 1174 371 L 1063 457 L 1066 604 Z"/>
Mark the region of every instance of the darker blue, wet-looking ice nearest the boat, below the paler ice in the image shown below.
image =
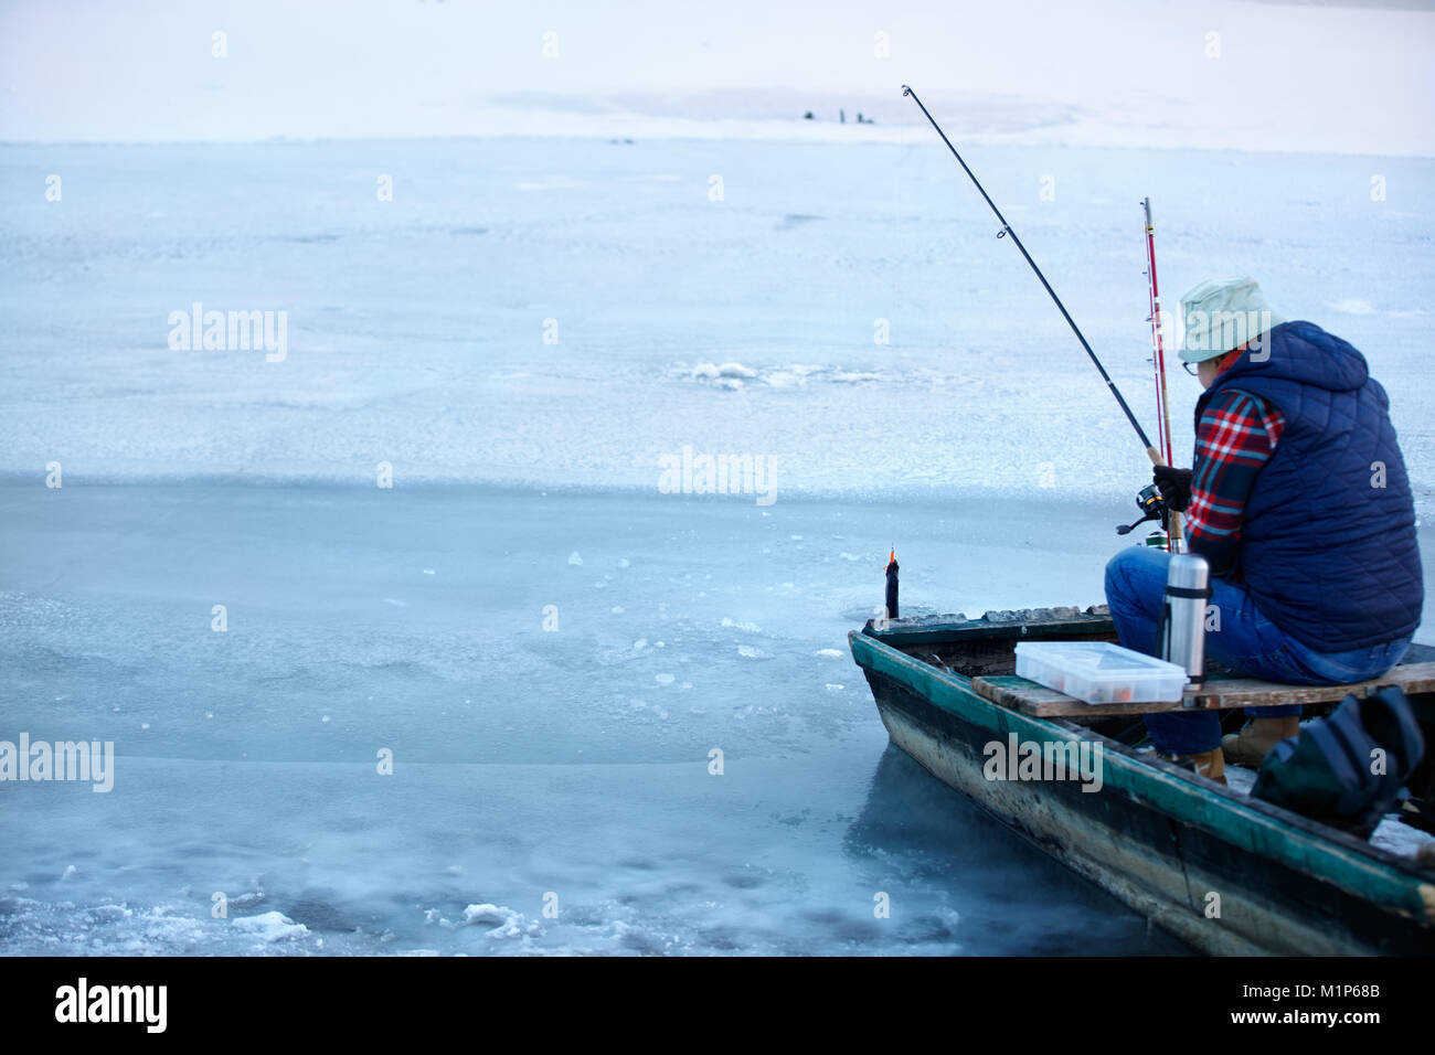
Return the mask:
<path id="1" fill-rule="evenodd" d="M 894 537 L 913 611 L 1099 600 L 1114 517 L 1020 512 L 6 488 L 6 728 L 116 761 L 0 785 L 0 947 L 1177 950 L 887 746 L 847 653 Z"/>

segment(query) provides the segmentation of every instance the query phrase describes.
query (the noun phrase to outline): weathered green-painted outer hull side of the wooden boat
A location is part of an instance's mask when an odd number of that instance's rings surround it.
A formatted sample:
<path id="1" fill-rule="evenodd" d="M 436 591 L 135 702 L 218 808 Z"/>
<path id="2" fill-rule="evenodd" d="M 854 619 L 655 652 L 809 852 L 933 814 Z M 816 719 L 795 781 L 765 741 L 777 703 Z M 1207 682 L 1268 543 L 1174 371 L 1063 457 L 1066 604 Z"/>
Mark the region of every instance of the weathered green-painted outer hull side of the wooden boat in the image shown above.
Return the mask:
<path id="1" fill-rule="evenodd" d="M 1062 622 L 1101 636 L 1109 620 Z M 973 692 L 961 673 L 916 659 L 957 640 L 1049 636 L 1053 627 L 960 624 L 848 634 L 894 744 L 946 784 L 1208 953 L 1435 952 L 1435 873 L 1327 825 L 1250 800 L 1059 719 L 1030 718 Z M 898 647 L 901 646 L 901 647 Z M 1004 647 L 1010 647 L 1009 643 Z M 1101 742 L 1104 785 L 989 781 L 984 745 Z M 1215 894 L 1218 901 L 1211 897 Z M 1218 914 L 1208 914 L 1218 904 Z M 1092 937 L 1099 952 L 1099 936 Z"/>

